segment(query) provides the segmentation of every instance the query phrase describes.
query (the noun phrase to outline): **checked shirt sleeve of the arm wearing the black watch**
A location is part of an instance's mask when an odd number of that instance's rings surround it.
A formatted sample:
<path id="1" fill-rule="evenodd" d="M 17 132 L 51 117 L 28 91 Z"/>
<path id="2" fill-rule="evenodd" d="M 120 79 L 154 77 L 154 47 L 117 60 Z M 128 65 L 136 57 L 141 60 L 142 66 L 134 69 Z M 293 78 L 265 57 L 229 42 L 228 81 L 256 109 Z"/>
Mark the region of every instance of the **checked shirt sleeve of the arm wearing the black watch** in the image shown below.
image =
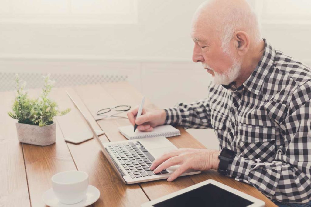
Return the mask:
<path id="1" fill-rule="evenodd" d="M 284 144 L 271 162 L 237 155 L 227 173 L 271 199 L 286 203 L 311 200 L 311 82 L 297 88 L 289 101 L 287 117 L 279 125 Z"/>

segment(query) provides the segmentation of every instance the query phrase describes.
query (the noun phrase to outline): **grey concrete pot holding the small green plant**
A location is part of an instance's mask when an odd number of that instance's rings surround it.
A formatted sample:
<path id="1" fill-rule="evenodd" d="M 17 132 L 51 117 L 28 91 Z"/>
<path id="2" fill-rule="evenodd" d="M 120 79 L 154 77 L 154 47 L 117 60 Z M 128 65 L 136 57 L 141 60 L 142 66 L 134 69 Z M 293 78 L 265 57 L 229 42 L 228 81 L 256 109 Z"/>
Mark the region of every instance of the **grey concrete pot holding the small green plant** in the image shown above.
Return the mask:
<path id="1" fill-rule="evenodd" d="M 22 143 L 47 146 L 55 143 L 56 124 L 39 127 L 31 124 L 16 123 L 17 137 Z"/>

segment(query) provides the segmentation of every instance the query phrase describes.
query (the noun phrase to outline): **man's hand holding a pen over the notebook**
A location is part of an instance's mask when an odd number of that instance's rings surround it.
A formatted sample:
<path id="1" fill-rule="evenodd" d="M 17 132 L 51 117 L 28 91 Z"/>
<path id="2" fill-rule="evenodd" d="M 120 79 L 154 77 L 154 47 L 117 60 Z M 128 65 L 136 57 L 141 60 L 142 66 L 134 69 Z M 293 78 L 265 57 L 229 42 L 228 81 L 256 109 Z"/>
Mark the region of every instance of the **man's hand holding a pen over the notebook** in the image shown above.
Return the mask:
<path id="1" fill-rule="evenodd" d="M 134 109 L 128 112 L 128 119 L 131 124 L 134 126 L 137 124 L 137 129 L 144 132 L 151 132 L 153 127 L 163 125 L 166 119 L 166 113 L 164 109 L 150 109 L 150 108 L 143 108 L 142 115 L 138 118 L 139 106 L 135 107 Z"/>

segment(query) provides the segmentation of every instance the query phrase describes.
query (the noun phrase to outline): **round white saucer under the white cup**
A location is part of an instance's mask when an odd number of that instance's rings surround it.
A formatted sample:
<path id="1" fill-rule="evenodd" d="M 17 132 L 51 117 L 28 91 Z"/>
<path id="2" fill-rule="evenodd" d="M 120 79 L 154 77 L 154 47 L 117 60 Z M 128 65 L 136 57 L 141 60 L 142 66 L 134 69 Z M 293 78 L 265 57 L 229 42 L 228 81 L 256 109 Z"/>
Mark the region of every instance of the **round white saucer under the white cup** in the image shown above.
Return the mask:
<path id="1" fill-rule="evenodd" d="M 100 196 L 100 191 L 96 187 L 89 185 L 89 187 L 87 188 L 87 192 L 86 192 L 86 198 L 76 204 L 63 204 L 59 202 L 52 188 L 45 191 L 42 198 L 43 198 L 43 202 L 50 207 L 54 207 L 54 206 L 85 207 L 85 206 L 95 203 L 95 201 L 98 200 L 99 196 Z"/>

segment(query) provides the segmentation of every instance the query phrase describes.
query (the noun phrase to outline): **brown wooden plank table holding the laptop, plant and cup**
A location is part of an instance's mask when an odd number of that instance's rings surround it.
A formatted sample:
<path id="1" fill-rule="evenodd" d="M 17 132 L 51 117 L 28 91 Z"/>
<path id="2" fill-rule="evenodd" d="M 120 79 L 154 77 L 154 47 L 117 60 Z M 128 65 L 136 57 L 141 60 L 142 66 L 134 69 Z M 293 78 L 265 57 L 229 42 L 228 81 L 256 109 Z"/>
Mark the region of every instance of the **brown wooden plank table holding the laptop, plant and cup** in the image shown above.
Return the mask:
<path id="1" fill-rule="evenodd" d="M 72 111 L 55 119 L 57 124 L 56 143 L 50 146 L 21 144 L 17 140 L 16 120 L 7 115 L 16 92 L 0 92 L 0 207 L 2 206 L 44 206 L 42 195 L 52 187 L 51 177 L 65 170 L 82 170 L 89 174 L 90 184 L 100 190 L 100 199 L 93 206 L 140 206 L 148 200 L 156 199 L 207 179 L 214 179 L 234 187 L 251 196 L 274 205 L 266 196 L 248 184 L 233 178 L 220 176 L 210 170 L 199 175 L 181 177 L 174 182 L 166 180 L 141 184 L 124 184 L 104 157 L 94 139 L 80 144 L 64 141 L 64 137 L 87 130 L 87 125 L 65 93 L 67 90 L 77 105 L 90 120 L 95 129 L 105 134 L 100 139 L 105 142 L 126 138 L 117 127 L 128 125 L 128 119 L 108 118 L 95 121 L 92 113 L 96 110 L 117 105 L 136 106 L 142 95 L 126 82 L 87 85 L 72 88 L 54 88 L 50 97 L 57 101 L 61 109 L 70 107 Z M 30 90 L 30 96 L 40 90 Z M 145 106 L 155 107 L 146 100 Z M 179 128 L 181 136 L 168 138 L 177 147 L 204 148 L 204 146 Z"/>

